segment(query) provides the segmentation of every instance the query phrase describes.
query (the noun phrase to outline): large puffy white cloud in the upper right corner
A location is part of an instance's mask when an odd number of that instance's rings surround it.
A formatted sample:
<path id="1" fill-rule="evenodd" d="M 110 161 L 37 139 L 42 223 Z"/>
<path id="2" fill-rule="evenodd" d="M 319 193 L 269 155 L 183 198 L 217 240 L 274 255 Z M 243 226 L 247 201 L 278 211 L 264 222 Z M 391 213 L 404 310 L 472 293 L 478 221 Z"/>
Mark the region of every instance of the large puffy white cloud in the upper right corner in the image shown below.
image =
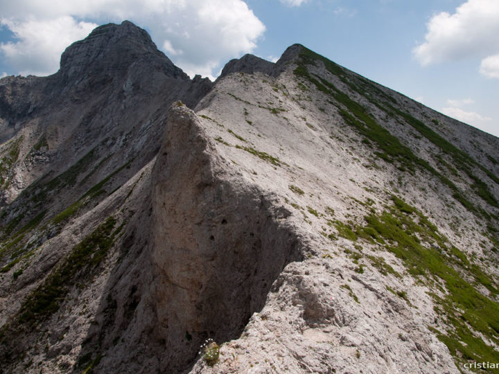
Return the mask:
<path id="1" fill-rule="evenodd" d="M 499 1 L 468 0 L 452 15 L 433 15 L 427 28 L 425 42 L 413 50 L 423 66 L 494 55 L 499 52 Z"/>

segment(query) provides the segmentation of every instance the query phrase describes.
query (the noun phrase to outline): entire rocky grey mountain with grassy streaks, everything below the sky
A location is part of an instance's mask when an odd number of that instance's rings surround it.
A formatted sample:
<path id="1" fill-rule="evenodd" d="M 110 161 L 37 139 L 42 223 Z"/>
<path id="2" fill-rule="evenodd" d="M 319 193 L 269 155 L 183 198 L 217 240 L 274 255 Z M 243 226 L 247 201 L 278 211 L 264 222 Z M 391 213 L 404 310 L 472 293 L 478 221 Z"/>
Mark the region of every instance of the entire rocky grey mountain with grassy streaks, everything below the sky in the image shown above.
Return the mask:
<path id="1" fill-rule="evenodd" d="M 99 26 L 0 142 L 0 373 L 499 363 L 499 139 L 304 46 L 211 82 Z"/>

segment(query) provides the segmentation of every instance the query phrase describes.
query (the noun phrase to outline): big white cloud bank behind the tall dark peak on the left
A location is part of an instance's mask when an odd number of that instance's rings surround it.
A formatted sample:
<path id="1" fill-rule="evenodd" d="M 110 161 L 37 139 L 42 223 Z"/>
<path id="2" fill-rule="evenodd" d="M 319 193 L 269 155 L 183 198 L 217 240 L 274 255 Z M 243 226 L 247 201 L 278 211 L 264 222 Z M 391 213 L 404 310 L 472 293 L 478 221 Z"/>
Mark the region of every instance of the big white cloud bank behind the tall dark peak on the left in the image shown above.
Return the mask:
<path id="1" fill-rule="evenodd" d="M 186 73 L 211 76 L 221 61 L 251 52 L 265 26 L 243 0 L 0 0 L 2 24 L 15 41 L 1 44 L 10 66 L 54 73 L 60 53 L 96 24 L 130 19 Z"/>

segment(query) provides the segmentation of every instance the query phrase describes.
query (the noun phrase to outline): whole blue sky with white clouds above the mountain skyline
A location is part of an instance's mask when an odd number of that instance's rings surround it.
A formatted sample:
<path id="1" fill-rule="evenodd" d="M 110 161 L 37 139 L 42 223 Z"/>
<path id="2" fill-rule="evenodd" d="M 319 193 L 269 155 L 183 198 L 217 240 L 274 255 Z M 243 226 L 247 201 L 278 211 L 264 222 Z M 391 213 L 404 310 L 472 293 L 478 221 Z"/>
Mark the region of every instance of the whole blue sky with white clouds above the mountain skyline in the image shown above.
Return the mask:
<path id="1" fill-rule="evenodd" d="M 0 0 L 0 74 L 47 75 L 65 46 L 130 19 L 186 73 L 294 43 L 499 136 L 498 0 Z"/>

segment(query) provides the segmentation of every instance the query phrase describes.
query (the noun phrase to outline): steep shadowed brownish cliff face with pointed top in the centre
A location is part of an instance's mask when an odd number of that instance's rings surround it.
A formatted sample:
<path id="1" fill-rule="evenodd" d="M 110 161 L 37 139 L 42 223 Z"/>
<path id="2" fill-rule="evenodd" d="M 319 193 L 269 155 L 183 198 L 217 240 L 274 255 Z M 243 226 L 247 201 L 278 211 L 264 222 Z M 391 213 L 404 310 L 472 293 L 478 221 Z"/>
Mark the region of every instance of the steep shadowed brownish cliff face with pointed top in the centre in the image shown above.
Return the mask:
<path id="1" fill-rule="evenodd" d="M 189 364 L 204 339 L 240 335 L 303 244 L 290 211 L 240 180 L 200 118 L 184 105 L 170 118 L 153 178 L 155 300 L 168 346 L 191 337 L 190 359 L 184 347 L 177 353 Z"/>

